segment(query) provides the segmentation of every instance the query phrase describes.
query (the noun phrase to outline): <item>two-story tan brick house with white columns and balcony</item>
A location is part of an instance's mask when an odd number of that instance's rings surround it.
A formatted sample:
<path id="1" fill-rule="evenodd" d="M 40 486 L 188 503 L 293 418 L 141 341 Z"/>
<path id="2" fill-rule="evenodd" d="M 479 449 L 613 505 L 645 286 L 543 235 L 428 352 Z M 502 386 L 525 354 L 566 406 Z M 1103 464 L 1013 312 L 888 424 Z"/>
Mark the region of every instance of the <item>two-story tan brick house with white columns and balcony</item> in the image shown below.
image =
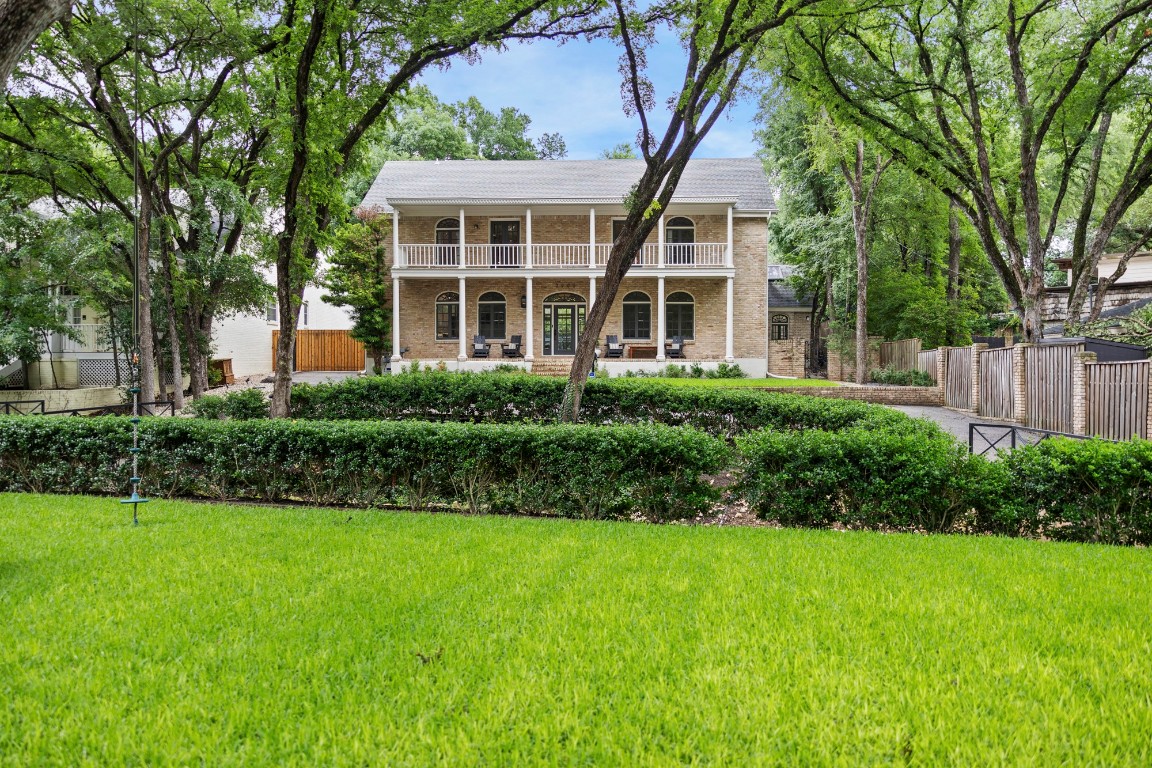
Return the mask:
<path id="1" fill-rule="evenodd" d="M 533 367 L 570 362 L 642 170 L 639 160 L 385 164 L 363 205 L 394 225 L 393 367 L 480 367 L 476 335 L 493 344 L 487 365 L 513 336 Z M 626 347 L 614 367 L 662 364 L 675 336 L 688 360 L 736 362 L 753 375 L 778 367 L 772 350 L 802 341 L 808 317 L 795 303 L 772 306 L 774 210 L 759 160 L 692 160 L 602 330 L 601 348 L 606 335 Z"/>

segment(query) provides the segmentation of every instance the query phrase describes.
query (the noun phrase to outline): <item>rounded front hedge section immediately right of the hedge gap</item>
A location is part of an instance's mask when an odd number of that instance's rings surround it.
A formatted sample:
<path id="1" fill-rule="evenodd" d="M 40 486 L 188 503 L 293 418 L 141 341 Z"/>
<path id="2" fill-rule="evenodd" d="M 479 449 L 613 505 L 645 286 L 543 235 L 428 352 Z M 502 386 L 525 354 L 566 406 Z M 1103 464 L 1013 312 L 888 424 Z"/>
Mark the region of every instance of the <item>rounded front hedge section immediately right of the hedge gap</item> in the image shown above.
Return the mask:
<path id="1" fill-rule="evenodd" d="M 783 525 L 947 532 L 987 519 L 1001 476 L 927 426 L 744 435 L 740 489 Z"/>

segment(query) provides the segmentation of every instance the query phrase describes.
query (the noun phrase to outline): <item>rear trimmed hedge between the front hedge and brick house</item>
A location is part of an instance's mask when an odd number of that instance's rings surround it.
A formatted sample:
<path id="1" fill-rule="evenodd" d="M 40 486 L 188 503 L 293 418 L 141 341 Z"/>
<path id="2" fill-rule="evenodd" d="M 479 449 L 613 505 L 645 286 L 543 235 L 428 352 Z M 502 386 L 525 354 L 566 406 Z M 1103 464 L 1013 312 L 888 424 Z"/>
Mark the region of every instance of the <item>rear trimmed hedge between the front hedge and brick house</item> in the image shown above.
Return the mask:
<path id="1" fill-rule="evenodd" d="M 564 380 L 545 377 L 418 373 L 293 387 L 301 419 L 548 421 Z M 911 424 L 892 409 L 852 401 L 759 390 L 670 387 L 644 380 L 589 381 L 582 418 L 590 424 L 688 424 L 718 436 L 751 429 L 843 429 Z"/>

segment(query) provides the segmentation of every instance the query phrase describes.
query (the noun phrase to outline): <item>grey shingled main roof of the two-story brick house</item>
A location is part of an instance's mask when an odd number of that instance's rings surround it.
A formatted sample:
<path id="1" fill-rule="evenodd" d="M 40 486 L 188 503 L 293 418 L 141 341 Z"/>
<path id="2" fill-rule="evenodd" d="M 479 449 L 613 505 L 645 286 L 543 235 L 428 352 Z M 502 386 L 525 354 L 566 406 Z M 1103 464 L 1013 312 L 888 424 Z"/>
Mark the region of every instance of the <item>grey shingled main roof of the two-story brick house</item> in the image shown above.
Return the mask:
<path id="1" fill-rule="evenodd" d="M 619 204 L 643 172 L 643 160 L 391 160 L 363 205 L 391 212 L 406 203 Z M 690 160 L 673 200 L 733 203 L 741 212 L 776 207 L 756 158 Z"/>

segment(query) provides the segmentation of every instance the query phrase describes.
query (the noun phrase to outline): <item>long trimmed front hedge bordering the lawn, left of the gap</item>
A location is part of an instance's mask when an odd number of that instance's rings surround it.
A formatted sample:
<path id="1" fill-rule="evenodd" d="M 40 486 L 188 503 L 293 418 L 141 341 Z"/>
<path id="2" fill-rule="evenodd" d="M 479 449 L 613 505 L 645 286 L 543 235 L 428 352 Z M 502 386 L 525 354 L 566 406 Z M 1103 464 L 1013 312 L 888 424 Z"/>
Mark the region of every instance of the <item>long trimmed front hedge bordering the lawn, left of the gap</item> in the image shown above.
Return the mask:
<path id="1" fill-rule="evenodd" d="M 0 418 L 0 491 L 123 494 L 131 425 L 118 418 Z M 664 426 L 145 419 L 144 491 L 156 496 L 316 504 L 455 504 L 616 518 L 695 515 L 702 474 L 728 448 Z"/>

